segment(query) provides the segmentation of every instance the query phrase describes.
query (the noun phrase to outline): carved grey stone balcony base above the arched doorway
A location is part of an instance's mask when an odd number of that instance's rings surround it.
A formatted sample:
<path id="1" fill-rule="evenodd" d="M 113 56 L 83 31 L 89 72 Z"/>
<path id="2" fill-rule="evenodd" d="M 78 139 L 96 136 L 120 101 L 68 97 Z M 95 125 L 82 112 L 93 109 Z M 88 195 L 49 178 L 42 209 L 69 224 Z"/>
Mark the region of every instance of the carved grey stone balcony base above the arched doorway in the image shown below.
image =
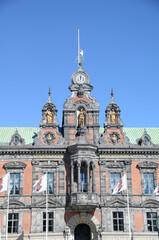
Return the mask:
<path id="1" fill-rule="evenodd" d="M 94 210 L 99 205 L 99 196 L 92 192 L 77 192 L 70 194 L 69 206 L 74 210 Z"/>

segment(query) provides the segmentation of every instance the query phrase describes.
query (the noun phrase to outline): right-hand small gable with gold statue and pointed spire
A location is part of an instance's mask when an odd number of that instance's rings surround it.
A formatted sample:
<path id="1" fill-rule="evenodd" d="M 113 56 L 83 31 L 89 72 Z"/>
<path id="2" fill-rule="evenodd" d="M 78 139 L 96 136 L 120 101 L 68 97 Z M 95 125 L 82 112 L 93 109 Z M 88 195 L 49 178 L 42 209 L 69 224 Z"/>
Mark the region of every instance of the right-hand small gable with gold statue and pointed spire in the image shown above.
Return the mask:
<path id="1" fill-rule="evenodd" d="M 106 120 L 104 122 L 104 133 L 99 138 L 99 144 L 108 145 L 129 145 L 130 141 L 123 133 L 123 122 L 120 118 L 120 108 L 114 100 L 113 89 L 111 90 L 111 100 L 105 110 Z"/>

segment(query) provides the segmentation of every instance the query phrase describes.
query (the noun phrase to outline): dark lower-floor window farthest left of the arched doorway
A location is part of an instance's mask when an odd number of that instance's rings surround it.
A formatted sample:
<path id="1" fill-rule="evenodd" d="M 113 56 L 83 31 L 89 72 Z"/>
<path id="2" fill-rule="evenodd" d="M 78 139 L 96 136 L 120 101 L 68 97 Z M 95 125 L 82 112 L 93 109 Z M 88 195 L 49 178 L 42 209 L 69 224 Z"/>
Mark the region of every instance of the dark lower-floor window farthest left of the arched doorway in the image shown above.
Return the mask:
<path id="1" fill-rule="evenodd" d="M 9 213 L 8 214 L 8 233 L 18 233 L 18 213 Z"/>

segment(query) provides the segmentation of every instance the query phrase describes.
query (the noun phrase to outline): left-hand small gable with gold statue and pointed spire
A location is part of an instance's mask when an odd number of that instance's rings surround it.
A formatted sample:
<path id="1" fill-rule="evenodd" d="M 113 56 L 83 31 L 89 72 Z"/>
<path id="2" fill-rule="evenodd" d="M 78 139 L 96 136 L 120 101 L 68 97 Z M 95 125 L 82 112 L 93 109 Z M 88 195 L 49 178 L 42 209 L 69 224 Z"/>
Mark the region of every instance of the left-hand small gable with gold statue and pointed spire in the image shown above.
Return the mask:
<path id="1" fill-rule="evenodd" d="M 35 138 L 33 145 L 64 144 L 64 138 L 59 132 L 57 109 L 52 102 L 50 88 L 48 94 L 48 100 L 42 109 L 42 120 L 40 121 L 41 130 Z"/>

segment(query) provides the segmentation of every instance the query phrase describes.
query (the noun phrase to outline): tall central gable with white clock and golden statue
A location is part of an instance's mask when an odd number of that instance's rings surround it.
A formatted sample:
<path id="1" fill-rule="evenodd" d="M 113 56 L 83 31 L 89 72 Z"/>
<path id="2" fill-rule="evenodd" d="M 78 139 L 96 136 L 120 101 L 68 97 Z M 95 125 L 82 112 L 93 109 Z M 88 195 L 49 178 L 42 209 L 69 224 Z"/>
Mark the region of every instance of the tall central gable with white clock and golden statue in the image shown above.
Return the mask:
<path id="1" fill-rule="evenodd" d="M 89 84 L 89 74 L 80 63 L 71 78 L 69 87 L 72 95 L 63 105 L 63 132 L 68 144 L 76 138 L 78 126 L 86 127 L 87 138 L 97 143 L 99 136 L 99 103 L 90 95 L 93 87 Z M 83 117 L 83 120 L 82 120 Z M 81 122 L 82 121 L 82 122 Z"/>

